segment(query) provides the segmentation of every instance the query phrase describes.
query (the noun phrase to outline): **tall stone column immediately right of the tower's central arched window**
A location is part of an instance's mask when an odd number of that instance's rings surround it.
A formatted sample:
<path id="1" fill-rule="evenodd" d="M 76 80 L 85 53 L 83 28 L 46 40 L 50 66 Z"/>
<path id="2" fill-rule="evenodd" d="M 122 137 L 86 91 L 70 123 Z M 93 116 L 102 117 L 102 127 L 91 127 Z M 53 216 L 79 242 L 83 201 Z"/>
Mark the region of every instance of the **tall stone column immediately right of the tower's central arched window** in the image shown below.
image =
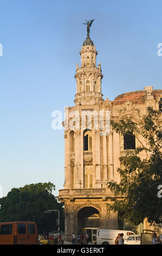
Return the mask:
<path id="1" fill-rule="evenodd" d="M 95 169 L 96 188 L 101 187 L 101 160 L 100 160 L 100 131 L 95 131 Z"/>

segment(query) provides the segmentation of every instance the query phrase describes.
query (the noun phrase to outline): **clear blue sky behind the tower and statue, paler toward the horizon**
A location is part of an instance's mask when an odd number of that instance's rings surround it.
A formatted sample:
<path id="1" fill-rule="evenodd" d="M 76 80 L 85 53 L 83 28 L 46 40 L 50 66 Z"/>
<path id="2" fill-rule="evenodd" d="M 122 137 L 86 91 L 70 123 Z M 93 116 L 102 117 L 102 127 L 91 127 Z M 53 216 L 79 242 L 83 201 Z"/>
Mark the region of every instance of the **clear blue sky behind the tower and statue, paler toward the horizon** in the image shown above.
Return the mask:
<path id="1" fill-rule="evenodd" d="M 161 89 L 161 0 L 0 1 L 0 185 L 64 183 L 63 130 L 51 113 L 74 106 L 76 62 L 90 38 L 102 68 L 102 93 L 117 95 L 151 85 Z"/>

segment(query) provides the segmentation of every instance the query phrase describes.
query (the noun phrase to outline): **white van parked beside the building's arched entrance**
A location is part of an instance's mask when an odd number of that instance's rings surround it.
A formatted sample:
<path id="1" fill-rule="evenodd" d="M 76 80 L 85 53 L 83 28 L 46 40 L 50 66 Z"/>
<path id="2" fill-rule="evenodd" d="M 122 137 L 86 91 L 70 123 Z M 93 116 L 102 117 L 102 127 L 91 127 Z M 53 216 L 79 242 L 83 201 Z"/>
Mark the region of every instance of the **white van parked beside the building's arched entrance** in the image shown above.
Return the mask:
<path id="1" fill-rule="evenodd" d="M 133 231 L 128 230 L 114 230 L 114 229 L 98 229 L 96 234 L 96 245 L 114 245 L 115 239 L 119 233 L 124 236 L 135 235 Z"/>

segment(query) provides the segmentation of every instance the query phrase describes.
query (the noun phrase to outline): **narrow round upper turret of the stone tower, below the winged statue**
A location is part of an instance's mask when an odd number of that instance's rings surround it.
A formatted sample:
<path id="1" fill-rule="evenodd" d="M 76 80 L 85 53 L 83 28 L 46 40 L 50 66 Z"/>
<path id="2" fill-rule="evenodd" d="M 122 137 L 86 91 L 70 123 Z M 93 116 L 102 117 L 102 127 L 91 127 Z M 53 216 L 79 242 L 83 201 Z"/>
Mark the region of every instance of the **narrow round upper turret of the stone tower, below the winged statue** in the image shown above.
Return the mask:
<path id="1" fill-rule="evenodd" d="M 87 38 L 81 48 L 81 67 L 76 65 L 76 105 L 94 105 L 102 101 L 101 65 L 96 66 L 96 55 L 93 41 Z"/>

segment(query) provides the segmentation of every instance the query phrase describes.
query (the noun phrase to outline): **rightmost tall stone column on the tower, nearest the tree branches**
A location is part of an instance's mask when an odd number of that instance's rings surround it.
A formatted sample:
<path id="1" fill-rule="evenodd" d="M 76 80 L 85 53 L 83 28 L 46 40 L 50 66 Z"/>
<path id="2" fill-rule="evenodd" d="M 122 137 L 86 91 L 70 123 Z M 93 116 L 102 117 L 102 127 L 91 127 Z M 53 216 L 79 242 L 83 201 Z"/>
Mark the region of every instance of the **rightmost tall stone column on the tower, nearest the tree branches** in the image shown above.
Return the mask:
<path id="1" fill-rule="evenodd" d="M 108 135 L 108 157 L 109 157 L 109 179 L 114 180 L 114 164 L 113 164 L 113 132 Z"/>

